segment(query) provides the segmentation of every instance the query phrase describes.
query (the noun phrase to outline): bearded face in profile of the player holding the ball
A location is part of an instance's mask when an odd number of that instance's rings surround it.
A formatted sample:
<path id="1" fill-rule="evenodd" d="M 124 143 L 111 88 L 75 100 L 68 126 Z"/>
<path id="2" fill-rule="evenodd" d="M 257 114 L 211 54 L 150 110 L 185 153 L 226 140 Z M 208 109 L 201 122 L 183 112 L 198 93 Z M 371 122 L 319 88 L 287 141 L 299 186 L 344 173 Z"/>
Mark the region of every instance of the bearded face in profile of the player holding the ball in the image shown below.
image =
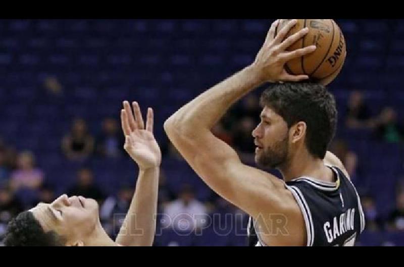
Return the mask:
<path id="1" fill-rule="evenodd" d="M 289 129 L 283 118 L 269 107 L 261 112 L 261 122 L 252 131 L 256 145 L 255 161 L 263 167 L 282 166 L 288 157 Z"/>

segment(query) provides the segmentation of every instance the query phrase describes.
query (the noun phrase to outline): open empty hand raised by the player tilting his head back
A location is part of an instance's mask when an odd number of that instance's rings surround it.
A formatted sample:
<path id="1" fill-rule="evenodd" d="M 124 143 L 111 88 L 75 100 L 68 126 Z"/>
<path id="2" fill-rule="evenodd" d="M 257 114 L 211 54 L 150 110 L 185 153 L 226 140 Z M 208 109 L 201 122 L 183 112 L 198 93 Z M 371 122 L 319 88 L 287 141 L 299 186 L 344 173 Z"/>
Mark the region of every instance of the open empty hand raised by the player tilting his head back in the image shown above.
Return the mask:
<path id="1" fill-rule="evenodd" d="M 153 109 L 147 109 L 146 126 L 144 126 L 139 104 L 132 103 L 133 112 L 128 101 L 123 102 L 121 110 L 122 130 L 125 135 L 124 149 L 139 165 L 139 169 L 159 167 L 161 151 L 153 135 Z"/>

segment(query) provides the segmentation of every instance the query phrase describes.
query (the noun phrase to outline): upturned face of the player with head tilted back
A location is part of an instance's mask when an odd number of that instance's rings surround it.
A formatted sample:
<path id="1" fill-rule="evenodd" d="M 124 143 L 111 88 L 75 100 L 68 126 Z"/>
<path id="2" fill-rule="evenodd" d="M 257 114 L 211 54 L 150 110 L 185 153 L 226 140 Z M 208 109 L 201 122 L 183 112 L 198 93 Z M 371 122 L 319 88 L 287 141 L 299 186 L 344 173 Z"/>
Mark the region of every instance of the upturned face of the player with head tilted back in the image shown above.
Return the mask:
<path id="1" fill-rule="evenodd" d="M 38 204 L 31 212 L 45 232 L 55 231 L 68 244 L 89 237 L 99 223 L 97 202 L 82 196 L 63 194 L 51 204 Z"/>

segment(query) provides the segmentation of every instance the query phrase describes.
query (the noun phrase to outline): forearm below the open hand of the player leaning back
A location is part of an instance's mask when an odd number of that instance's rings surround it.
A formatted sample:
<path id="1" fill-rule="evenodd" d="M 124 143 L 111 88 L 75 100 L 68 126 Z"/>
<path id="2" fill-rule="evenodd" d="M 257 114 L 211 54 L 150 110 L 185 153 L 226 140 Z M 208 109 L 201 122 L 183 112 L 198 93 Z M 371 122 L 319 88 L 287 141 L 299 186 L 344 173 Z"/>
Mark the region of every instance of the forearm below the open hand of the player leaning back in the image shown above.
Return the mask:
<path id="1" fill-rule="evenodd" d="M 159 167 L 139 170 L 135 194 L 116 242 L 123 246 L 151 246 L 156 232 Z"/>

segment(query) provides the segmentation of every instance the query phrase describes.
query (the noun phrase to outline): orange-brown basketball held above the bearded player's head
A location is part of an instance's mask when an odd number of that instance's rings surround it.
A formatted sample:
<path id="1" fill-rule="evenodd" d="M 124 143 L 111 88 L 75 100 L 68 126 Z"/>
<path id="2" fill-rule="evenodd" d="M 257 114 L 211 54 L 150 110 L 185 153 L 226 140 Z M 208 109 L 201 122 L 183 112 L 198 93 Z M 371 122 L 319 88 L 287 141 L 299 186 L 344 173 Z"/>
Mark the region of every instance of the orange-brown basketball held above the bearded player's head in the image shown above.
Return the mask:
<path id="1" fill-rule="evenodd" d="M 275 36 L 288 21 L 290 20 L 281 20 L 275 30 Z M 309 33 L 287 50 L 293 51 L 313 44 L 317 49 L 313 53 L 288 61 L 285 69 L 289 74 L 308 75 L 311 81 L 327 85 L 338 76 L 344 64 L 344 36 L 333 20 L 299 19 L 285 38 L 305 27 L 309 28 Z"/>

